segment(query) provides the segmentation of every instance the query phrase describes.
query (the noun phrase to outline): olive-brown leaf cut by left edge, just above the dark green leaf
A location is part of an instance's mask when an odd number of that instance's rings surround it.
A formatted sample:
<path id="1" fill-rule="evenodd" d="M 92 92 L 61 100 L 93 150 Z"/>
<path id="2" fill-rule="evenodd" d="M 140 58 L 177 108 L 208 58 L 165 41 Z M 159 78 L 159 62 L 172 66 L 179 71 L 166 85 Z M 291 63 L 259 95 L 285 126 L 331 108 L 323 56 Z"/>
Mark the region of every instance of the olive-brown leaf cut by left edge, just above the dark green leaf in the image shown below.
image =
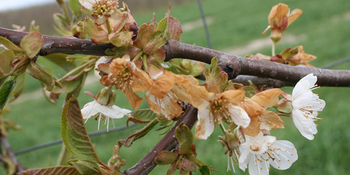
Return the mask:
<path id="1" fill-rule="evenodd" d="M 12 50 L 4 50 L 0 53 L 0 78 L 7 77 L 13 72 L 11 62 L 14 59 Z"/>

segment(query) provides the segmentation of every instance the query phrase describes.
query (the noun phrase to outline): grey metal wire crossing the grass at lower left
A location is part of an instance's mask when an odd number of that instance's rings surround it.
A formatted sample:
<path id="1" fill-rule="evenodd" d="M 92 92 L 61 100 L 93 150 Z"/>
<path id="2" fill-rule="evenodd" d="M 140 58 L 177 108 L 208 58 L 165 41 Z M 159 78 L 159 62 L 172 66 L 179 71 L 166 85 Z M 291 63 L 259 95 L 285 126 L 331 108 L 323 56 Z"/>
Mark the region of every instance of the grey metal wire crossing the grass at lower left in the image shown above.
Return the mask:
<path id="1" fill-rule="evenodd" d="M 129 128 L 133 127 L 133 126 L 136 126 L 136 125 L 137 124 L 130 124 Z M 100 134 L 106 134 L 106 133 L 111 133 L 111 132 L 115 132 L 115 131 L 123 131 L 123 130 L 126 130 L 126 129 L 127 129 L 126 126 L 116 127 L 115 130 L 113 130 L 113 128 L 109 128 L 109 132 L 107 132 L 107 130 L 96 131 L 96 132 L 89 133 L 89 136 L 93 137 L 93 136 L 100 135 Z M 21 155 L 21 154 L 24 154 L 24 153 L 35 151 L 37 149 L 41 149 L 41 148 L 45 148 L 45 147 L 49 147 L 49 146 L 54 146 L 54 145 L 61 144 L 61 143 L 62 143 L 62 140 L 56 140 L 56 141 L 47 142 L 47 143 L 44 143 L 44 144 L 36 145 L 36 146 L 29 147 L 29 148 L 23 149 L 21 151 L 18 151 L 18 152 L 15 153 L 15 155 Z"/>

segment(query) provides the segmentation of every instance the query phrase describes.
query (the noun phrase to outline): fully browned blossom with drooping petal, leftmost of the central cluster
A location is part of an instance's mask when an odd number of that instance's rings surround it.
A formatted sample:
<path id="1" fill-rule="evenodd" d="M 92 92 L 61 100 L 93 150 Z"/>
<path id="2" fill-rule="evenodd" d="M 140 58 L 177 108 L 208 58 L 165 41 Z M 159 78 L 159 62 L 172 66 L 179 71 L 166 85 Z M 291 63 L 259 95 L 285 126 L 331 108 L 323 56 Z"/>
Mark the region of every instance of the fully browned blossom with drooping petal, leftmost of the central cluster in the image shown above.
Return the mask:
<path id="1" fill-rule="evenodd" d="M 103 84 L 114 84 L 117 89 L 125 93 L 126 98 L 134 109 L 138 109 L 142 98 L 135 92 L 146 91 L 152 83 L 149 75 L 139 69 L 135 62 L 130 62 L 130 56 L 124 55 L 122 58 L 113 59 L 109 65 L 108 76 L 100 80 Z"/>

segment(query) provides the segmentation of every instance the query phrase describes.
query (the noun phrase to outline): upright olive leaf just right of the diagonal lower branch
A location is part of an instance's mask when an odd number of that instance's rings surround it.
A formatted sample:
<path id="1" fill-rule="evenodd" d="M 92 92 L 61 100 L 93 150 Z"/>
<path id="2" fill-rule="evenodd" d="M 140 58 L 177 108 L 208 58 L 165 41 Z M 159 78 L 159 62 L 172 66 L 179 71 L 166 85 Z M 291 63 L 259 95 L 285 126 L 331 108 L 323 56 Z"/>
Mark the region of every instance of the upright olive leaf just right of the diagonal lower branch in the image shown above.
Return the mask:
<path id="1" fill-rule="evenodd" d="M 175 136 L 180 145 L 179 154 L 193 154 L 191 151 L 193 134 L 190 128 L 181 123 L 175 130 Z"/>

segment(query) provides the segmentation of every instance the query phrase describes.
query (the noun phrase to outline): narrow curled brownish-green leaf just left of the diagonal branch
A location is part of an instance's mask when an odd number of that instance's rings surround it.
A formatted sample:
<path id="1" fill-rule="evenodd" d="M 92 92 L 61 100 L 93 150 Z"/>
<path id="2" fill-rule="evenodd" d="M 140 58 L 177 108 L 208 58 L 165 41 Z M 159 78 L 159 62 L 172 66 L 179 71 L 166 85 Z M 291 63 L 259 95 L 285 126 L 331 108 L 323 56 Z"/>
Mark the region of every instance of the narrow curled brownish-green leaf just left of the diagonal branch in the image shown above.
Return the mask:
<path id="1" fill-rule="evenodd" d="M 118 141 L 119 147 L 121 145 L 124 145 L 125 147 L 130 147 L 135 140 L 144 137 L 157 124 L 158 124 L 158 121 L 154 119 L 150 123 L 148 123 L 145 127 L 143 127 L 141 130 L 136 130 L 132 132 L 127 139 Z"/>

